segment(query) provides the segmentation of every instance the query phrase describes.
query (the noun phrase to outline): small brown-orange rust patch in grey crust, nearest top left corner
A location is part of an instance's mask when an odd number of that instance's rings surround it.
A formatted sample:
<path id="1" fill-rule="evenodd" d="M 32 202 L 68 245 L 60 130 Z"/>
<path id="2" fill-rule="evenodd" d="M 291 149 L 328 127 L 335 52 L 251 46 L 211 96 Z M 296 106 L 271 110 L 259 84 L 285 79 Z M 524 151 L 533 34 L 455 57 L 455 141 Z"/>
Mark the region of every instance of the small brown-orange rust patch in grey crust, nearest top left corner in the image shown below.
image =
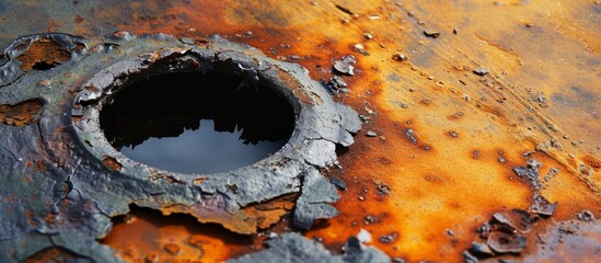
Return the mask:
<path id="1" fill-rule="evenodd" d="M 21 67 L 25 71 L 35 69 L 38 65 L 46 67 L 55 67 L 63 64 L 71 58 L 71 54 L 62 50 L 60 46 L 51 39 L 39 39 L 30 46 L 24 54 L 16 59 L 21 62 Z"/>

